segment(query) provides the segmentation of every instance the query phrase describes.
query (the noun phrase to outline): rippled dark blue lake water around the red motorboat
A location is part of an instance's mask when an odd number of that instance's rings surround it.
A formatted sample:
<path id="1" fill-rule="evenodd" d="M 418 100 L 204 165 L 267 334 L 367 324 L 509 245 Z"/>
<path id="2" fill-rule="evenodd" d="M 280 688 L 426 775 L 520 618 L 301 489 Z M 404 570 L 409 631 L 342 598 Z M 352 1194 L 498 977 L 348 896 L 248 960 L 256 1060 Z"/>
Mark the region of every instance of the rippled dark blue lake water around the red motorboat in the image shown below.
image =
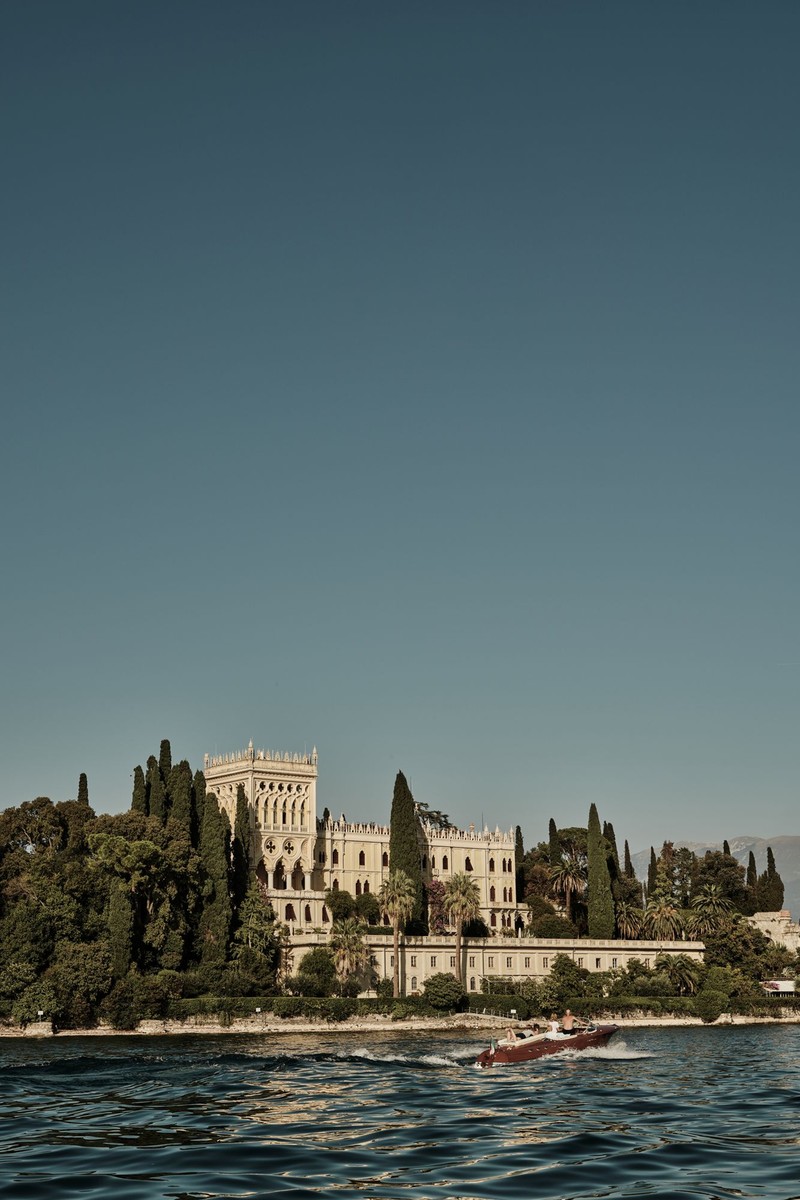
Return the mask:
<path id="1" fill-rule="evenodd" d="M 0 1040 L 0 1195 L 800 1198 L 800 1027 Z"/>

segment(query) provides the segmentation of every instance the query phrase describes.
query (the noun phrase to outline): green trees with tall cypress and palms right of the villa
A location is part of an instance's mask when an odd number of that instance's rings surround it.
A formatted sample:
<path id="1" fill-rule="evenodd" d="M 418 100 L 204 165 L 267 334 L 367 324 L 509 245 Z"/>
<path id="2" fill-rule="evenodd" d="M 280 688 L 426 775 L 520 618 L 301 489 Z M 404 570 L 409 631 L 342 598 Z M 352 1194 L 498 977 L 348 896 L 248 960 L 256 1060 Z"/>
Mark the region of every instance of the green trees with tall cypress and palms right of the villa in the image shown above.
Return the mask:
<path id="1" fill-rule="evenodd" d="M 523 857 L 522 900 L 528 932 L 539 937 L 705 940 L 721 923 L 783 905 L 783 881 L 771 847 L 759 875 L 751 851 L 747 868 L 730 853 L 693 851 L 666 841 L 650 850 L 645 881 L 633 869 L 627 841 L 620 856 L 610 822 L 589 809 L 585 828 L 559 829 Z"/>

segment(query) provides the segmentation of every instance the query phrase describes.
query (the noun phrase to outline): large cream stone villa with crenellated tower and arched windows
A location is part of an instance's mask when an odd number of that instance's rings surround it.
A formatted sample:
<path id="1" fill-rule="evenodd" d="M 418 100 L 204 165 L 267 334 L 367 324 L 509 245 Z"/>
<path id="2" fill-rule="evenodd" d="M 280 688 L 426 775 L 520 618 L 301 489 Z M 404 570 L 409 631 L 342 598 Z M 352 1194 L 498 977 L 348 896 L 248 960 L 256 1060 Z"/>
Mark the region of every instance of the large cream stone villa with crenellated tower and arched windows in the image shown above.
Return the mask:
<path id="1" fill-rule="evenodd" d="M 387 824 L 317 816 L 317 750 L 307 754 L 246 750 L 204 760 L 206 787 L 234 822 L 236 792 L 245 788 L 251 811 L 252 858 L 272 906 L 291 932 L 294 968 L 314 946 L 327 940 L 326 890 L 354 896 L 377 894 L 389 874 Z M 469 872 L 481 894 L 481 916 L 491 931 L 464 947 L 463 977 L 471 991 L 492 976 L 537 978 L 549 972 L 557 954 L 569 954 L 590 971 L 624 967 L 628 959 L 660 953 L 702 959 L 702 942 L 600 942 L 587 938 L 548 941 L 519 936 L 515 900 L 515 830 L 449 828 L 422 824 L 420 840 L 426 882 L 445 882 Z M 384 918 L 386 919 L 386 918 Z M 387 922 L 386 922 L 387 923 Z M 380 977 L 391 978 L 392 943 L 385 934 L 367 937 Z M 408 937 L 401 949 L 404 990 L 417 991 L 437 972 L 456 966 L 451 935 Z"/>

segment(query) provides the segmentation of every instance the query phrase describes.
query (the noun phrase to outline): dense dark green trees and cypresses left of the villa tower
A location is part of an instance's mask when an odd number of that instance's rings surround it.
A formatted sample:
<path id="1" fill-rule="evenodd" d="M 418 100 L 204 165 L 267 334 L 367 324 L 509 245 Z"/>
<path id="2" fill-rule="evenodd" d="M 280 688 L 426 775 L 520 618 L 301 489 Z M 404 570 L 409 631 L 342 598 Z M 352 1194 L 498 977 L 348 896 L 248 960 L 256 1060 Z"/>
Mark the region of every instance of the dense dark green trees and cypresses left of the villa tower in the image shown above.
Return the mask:
<path id="1" fill-rule="evenodd" d="M 283 944 L 234 828 L 169 742 L 134 770 L 127 812 L 74 800 L 0 812 L 0 1010 L 64 1027 L 178 996 L 271 994 Z"/>

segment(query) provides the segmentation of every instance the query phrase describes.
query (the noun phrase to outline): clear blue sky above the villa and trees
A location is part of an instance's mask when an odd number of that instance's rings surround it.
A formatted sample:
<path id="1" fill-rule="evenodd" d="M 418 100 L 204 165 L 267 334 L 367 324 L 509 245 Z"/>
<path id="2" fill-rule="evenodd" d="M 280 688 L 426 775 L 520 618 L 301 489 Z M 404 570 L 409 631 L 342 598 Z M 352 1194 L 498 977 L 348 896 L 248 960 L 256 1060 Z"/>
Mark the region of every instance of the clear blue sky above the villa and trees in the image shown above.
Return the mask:
<path id="1" fill-rule="evenodd" d="M 800 7 L 0 6 L 2 805 L 798 834 Z"/>

